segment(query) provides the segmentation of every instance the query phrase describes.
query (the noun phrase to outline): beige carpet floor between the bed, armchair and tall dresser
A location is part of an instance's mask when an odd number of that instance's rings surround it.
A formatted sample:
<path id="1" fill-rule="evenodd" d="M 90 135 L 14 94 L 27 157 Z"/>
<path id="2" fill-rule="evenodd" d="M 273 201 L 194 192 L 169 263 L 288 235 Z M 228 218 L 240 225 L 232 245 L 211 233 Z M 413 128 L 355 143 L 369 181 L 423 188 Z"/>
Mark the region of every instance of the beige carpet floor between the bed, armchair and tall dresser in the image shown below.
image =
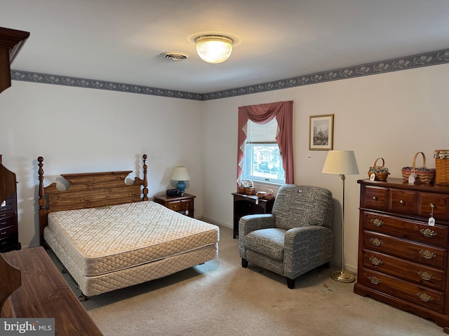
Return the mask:
<path id="1" fill-rule="evenodd" d="M 330 279 L 333 269 L 304 274 L 290 290 L 281 276 L 243 269 L 232 230 L 220 236 L 219 258 L 84 307 L 105 335 L 444 335 L 432 321 L 354 294 L 354 283 Z"/>

